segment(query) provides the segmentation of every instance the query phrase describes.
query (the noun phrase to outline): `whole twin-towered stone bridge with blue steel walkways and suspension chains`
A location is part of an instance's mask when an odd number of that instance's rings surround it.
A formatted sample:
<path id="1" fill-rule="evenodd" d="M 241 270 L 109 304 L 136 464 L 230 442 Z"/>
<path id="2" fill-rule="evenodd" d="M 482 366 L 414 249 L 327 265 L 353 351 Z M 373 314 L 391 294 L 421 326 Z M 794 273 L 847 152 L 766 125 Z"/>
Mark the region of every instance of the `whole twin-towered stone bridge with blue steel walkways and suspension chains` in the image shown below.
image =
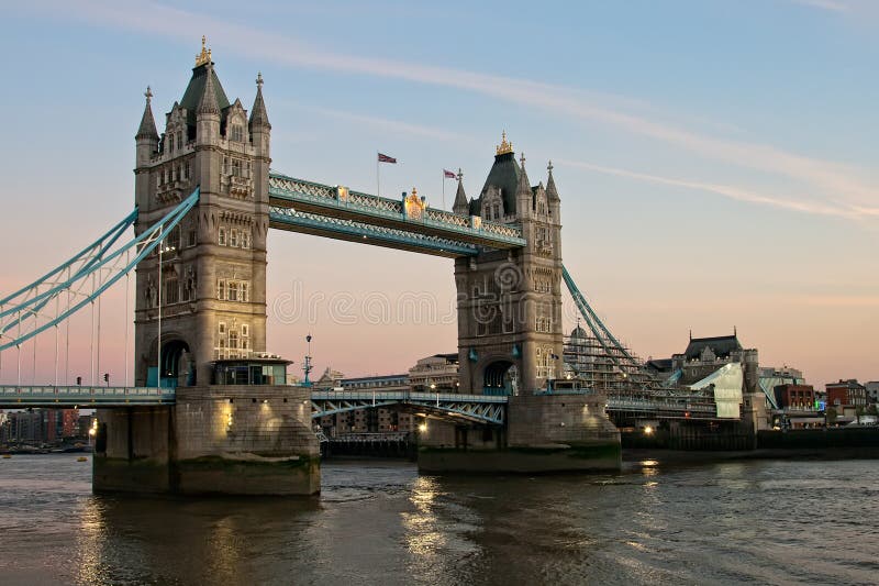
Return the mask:
<path id="1" fill-rule="evenodd" d="M 615 469 L 620 436 L 609 408 L 706 414 L 685 400 L 553 391 L 563 374 L 563 276 L 602 344 L 619 342 L 561 264 L 552 164 L 546 183 L 532 185 L 504 133 L 478 196 L 468 198 L 458 176 L 450 212 L 430 208 L 415 188 L 390 199 L 293 178 L 270 168 L 263 86 L 257 76 L 249 112 L 231 101 L 202 43 L 162 134 L 145 93 L 135 211 L 0 299 L 0 353 L 18 352 L 20 373 L 24 342 L 54 331 L 57 363 L 59 325 L 96 302 L 100 316 L 101 294 L 134 273 L 133 385 L 126 373 L 123 387 L 71 387 L 57 376 L 27 387 L 19 374 L 0 388 L 4 407 L 99 408 L 96 490 L 312 494 L 312 418 L 365 406 L 434 419 L 420 438 L 427 471 Z M 123 242 L 129 226 L 135 236 Z M 266 349 L 269 229 L 452 258 L 461 394 L 338 396 L 285 385 L 288 363 Z M 127 347 L 127 328 L 125 336 Z M 621 373 L 638 371 L 627 353 L 612 354 Z"/>

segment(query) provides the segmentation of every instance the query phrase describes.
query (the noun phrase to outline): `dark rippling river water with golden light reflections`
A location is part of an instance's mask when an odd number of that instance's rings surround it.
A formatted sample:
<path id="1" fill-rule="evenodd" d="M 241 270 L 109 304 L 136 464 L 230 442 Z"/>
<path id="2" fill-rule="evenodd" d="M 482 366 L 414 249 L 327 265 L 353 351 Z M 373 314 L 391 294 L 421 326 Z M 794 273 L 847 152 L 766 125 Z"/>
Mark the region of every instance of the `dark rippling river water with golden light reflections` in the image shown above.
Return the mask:
<path id="1" fill-rule="evenodd" d="M 91 495 L 0 460 L 1 584 L 875 584 L 879 461 L 420 477 L 326 463 L 318 499 Z"/>

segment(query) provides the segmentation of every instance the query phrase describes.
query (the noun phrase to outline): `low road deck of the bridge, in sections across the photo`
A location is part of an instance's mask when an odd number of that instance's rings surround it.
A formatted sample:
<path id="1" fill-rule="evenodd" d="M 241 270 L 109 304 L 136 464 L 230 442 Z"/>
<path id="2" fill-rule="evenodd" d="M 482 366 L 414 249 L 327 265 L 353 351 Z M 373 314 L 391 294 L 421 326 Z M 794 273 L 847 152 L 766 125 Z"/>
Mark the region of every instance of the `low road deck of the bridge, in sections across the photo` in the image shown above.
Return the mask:
<path id="1" fill-rule="evenodd" d="M 547 391 L 538 391 L 547 394 Z M 590 390 L 556 390 L 555 395 L 594 394 Z M 507 396 L 413 391 L 313 390 L 311 417 L 356 411 L 370 407 L 402 406 L 435 417 L 502 425 Z M 175 389 L 156 387 L 0 386 L 0 409 L 31 407 L 69 409 L 123 408 L 174 405 Z M 609 412 L 659 419 L 717 420 L 716 408 L 704 397 L 609 397 Z"/>

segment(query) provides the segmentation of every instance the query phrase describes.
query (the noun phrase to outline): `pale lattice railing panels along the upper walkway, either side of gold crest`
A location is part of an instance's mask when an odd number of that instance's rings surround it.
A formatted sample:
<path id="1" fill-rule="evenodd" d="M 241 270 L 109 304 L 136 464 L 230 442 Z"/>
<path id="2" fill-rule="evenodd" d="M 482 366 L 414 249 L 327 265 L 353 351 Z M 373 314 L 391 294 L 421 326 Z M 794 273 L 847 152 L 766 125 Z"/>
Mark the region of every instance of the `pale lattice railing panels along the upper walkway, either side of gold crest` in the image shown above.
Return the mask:
<path id="1" fill-rule="evenodd" d="M 321 206 L 355 209 L 370 215 L 393 220 L 408 219 L 402 200 L 352 191 L 344 187 L 321 185 L 275 172 L 269 175 L 268 185 L 269 195 L 279 199 L 290 199 L 293 196 L 296 199 L 312 201 Z M 488 222 L 481 218 L 469 218 L 432 208 L 426 208 L 421 218 L 411 221 L 461 234 L 481 232 L 509 244 L 523 244 L 522 226 L 516 224 Z"/>

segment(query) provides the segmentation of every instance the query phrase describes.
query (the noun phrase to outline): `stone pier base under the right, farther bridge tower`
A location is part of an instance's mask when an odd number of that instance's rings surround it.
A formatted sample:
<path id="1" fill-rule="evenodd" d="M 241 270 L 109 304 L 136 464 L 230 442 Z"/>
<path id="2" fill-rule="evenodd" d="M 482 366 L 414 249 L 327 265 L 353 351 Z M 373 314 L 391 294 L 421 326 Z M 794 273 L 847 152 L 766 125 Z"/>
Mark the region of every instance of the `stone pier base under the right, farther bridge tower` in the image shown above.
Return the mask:
<path id="1" fill-rule="evenodd" d="M 596 395 L 510 397 L 505 429 L 430 421 L 419 471 L 555 473 L 619 471 L 620 432 Z"/>

